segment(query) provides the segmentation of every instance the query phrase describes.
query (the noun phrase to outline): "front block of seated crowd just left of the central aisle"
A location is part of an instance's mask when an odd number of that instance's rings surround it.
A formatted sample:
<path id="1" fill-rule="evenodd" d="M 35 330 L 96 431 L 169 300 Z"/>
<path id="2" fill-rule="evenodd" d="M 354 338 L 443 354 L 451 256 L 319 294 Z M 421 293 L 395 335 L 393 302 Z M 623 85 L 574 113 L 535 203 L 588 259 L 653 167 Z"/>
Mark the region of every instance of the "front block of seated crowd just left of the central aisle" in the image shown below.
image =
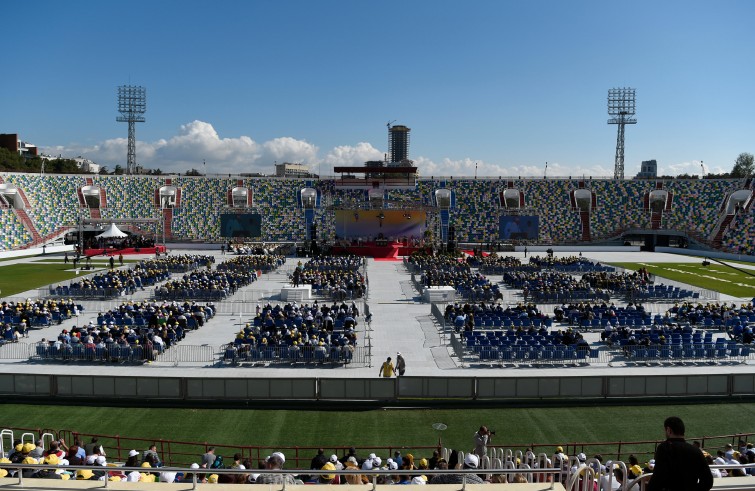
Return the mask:
<path id="1" fill-rule="evenodd" d="M 355 303 L 257 306 L 251 323 L 228 345 L 225 360 L 348 361 L 357 345 Z"/>

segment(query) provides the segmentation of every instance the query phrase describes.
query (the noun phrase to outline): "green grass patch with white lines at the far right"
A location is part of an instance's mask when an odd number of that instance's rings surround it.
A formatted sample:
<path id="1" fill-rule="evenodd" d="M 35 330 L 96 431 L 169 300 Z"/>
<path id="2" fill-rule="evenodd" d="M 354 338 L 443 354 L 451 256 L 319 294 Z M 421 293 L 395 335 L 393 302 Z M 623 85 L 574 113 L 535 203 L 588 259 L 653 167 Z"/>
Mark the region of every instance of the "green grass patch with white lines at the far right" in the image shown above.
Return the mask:
<path id="1" fill-rule="evenodd" d="M 734 297 L 755 296 L 755 271 L 744 270 L 743 273 L 734 268 L 712 263 L 703 266 L 700 263 L 611 263 L 628 270 L 636 271 L 640 268 L 657 276 L 670 280 L 681 281 L 700 288 L 707 288 Z M 743 269 L 743 268 L 742 268 Z"/>

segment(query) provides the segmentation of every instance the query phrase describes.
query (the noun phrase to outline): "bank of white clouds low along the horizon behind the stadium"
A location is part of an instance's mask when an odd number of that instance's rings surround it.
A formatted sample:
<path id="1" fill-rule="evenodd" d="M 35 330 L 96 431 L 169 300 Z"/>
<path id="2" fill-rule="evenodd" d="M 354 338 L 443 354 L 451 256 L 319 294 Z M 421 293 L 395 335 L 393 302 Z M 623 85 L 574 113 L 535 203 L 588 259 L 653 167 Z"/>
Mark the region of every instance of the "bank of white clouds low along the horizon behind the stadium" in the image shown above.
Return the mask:
<path id="1" fill-rule="evenodd" d="M 82 156 L 113 170 L 116 164 L 125 166 L 127 140 L 113 138 L 94 146 L 43 147 L 44 153 L 64 157 Z M 274 162 L 298 162 L 310 166 L 314 172 L 331 175 L 334 166 L 361 166 L 368 160 L 382 160 L 383 151 L 369 142 L 356 145 L 340 145 L 332 148 L 324 157 L 319 157 L 319 148 L 305 140 L 278 137 L 258 143 L 249 136 L 221 138 L 210 124 L 192 121 L 181 125 L 175 136 L 152 142 L 138 141 L 136 161 L 149 169 L 163 172 L 186 172 L 196 169 L 204 172 L 202 161 L 207 162 L 210 174 L 260 172 L 272 174 Z M 612 176 L 613 165 L 571 165 L 549 162 L 545 165 L 501 165 L 467 157 L 460 160 L 444 158 L 435 161 L 424 156 L 414 158 L 414 163 L 423 177 L 429 176 L 474 176 L 479 177 L 548 177 Z M 705 168 L 707 172 L 725 172 L 725 169 Z M 700 162 L 681 162 L 659 167 L 660 175 L 700 174 Z M 628 178 L 632 176 L 627 175 Z"/>

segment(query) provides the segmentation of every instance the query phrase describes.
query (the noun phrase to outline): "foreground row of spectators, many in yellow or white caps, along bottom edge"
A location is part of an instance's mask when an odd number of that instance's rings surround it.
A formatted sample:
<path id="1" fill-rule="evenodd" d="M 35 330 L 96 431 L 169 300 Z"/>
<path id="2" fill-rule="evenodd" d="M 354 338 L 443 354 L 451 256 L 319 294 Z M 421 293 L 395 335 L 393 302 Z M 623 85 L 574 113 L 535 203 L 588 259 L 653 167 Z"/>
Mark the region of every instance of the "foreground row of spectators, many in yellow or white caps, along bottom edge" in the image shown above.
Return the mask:
<path id="1" fill-rule="evenodd" d="M 736 446 L 727 443 L 722 448 L 710 452 L 706 451 L 699 441 L 685 445 L 689 447 L 690 452 L 701 454 L 702 468 L 699 471 L 705 472 L 706 475 L 701 476 L 700 479 L 708 483 L 708 487 L 703 489 L 709 489 L 711 483 L 715 482 L 714 480 L 755 476 L 755 467 L 752 466 L 755 464 L 755 446 L 752 443 L 740 439 Z M 97 437 L 93 437 L 91 442 L 86 444 L 82 439 L 77 438 L 70 446 L 63 439 L 53 440 L 46 446 L 42 440 L 37 440 L 35 443 L 14 440 L 7 456 L 0 455 L 0 463 L 45 464 L 57 467 L 23 470 L 11 467 L 0 470 L 0 478 L 14 477 L 17 472 L 22 472 L 24 478 L 37 479 L 165 483 L 191 483 L 196 480 L 198 483 L 209 484 L 267 485 L 365 485 L 375 480 L 379 485 L 434 485 L 464 482 L 467 484 L 551 483 L 555 481 L 566 486 L 578 481 L 580 486 L 586 484 L 589 489 L 600 491 L 623 489 L 622 486 L 625 483 L 654 474 L 656 471 L 658 478 L 662 479 L 660 467 L 656 469 L 655 458 L 643 462 L 644 459 L 640 460 L 636 455 L 630 454 L 625 461 L 614 461 L 605 459 L 601 454 L 588 457 L 585 452 L 570 456 L 564 452 L 562 446 L 556 446 L 552 454 L 544 452 L 536 454 L 531 448 L 515 452 L 501 449 L 499 452 L 495 448 L 489 448 L 487 444 L 470 453 L 438 448 L 433 450 L 429 457 L 410 452 L 403 453 L 401 450 L 396 450 L 392 454 L 388 452 L 388 455 L 384 454 L 382 457 L 378 453 L 380 452 L 360 455 L 356 448 L 351 447 L 342 455 L 337 453 L 328 455 L 324 449 L 320 448 L 308 464 L 289 463 L 287 466 L 286 456 L 280 451 L 272 452 L 255 462 L 251 458 L 244 458 L 240 452 L 235 452 L 232 457 L 224 459 L 216 447 L 210 446 L 204 454 L 198 455 L 196 462 L 186 466 L 188 467 L 186 472 L 176 473 L 168 470 L 170 465 L 163 463 L 155 444 L 143 451 L 130 450 L 125 462 L 119 463 L 117 457 L 113 458 L 108 455 Z M 656 452 L 656 456 L 658 459 L 661 458 L 660 450 Z M 659 466 L 670 466 L 665 471 L 673 469 L 674 472 L 691 473 L 693 472 L 692 463 L 685 459 L 692 457 L 692 455 L 687 457 L 685 454 L 679 462 L 666 460 L 662 464 L 660 460 L 658 462 Z M 748 465 L 751 467 L 742 467 Z M 68 466 L 85 466 L 85 468 L 74 470 L 67 468 Z M 253 470 L 253 472 L 226 473 L 218 472 L 219 469 Z M 284 469 L 287 469 L 287 472 L 282 472 Z M 472 472 L 432 473 L 434 470 L 454 469 Z M 490 469 L 504 469 L 504 471 L 490 472 Z M 539 469 L 555 472 L 525 472 Z M 360 472 L 336 474 L 336 471 L 342 470 Z M 317 471 L 317 473 L 312 471 Z M 707 476 L 707 472 L 710 472 L 710 476 Z M 653 478 L 650 478 L 651 481 Z M 583 483 L 585 479 L 594 479 L 594 483 Z M 688 480 L 684 475 L 672 475 L 672 479 L 680 482 Z M 698 477 L 694 477 L 695 481 L 697 479 Z M 583 488 L 580 487 L 580 489 Z M 635 487 L 629 489 L 635 489 Z"/>

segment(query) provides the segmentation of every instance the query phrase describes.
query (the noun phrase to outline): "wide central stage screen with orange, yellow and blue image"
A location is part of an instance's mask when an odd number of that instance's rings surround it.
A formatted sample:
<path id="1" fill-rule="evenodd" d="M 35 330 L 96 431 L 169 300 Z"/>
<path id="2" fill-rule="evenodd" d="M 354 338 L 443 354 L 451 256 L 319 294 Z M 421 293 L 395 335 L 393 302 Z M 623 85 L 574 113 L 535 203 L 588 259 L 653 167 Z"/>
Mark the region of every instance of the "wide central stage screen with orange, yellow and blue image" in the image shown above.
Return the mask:
<path id="1" fill-rule="evenodd" d="M 426 213 L 406 210 L 336 210 L 336 235 L 339 238 L 371 239 L 421 238 Z"/>

